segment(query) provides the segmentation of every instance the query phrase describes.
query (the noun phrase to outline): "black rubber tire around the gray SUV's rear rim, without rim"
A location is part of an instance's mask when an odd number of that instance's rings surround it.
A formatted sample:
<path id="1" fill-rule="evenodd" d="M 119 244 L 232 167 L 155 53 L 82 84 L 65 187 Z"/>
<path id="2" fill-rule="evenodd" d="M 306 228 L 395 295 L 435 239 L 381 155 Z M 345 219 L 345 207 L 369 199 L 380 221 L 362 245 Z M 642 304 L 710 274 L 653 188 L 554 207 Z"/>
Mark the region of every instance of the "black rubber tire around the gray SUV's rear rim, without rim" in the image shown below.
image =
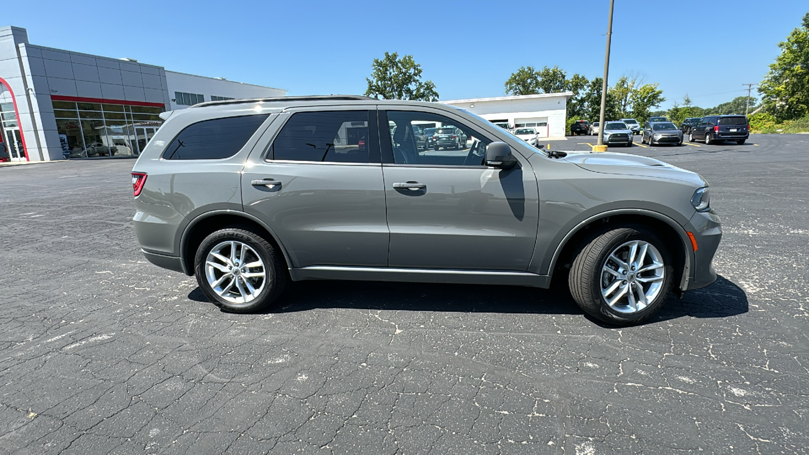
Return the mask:
<path id="1" fill-rule="evenodd" d="M 260 257 L 265 264 L 265 285 L 255 299 L 246 304 L 234 304 L 219 296 L 208 283 L 205 276 L 205 258 L 216 245 L 227 240 L 236 240 L 248 245 Z M 202 240 L 197 254 L 194 257 L 194 274 L 197 275 L 197 284 L 201 291 L 219 308 L 231 313 L 255 313 L 272 307 L 278 296 L 284 291 L 289 277 L 286 270 L 286 262 L 283 254 L 277 250 L 268 240 L 252 232 L 249 228 L 231 226 L 219 229 L 211 233 Z"/>

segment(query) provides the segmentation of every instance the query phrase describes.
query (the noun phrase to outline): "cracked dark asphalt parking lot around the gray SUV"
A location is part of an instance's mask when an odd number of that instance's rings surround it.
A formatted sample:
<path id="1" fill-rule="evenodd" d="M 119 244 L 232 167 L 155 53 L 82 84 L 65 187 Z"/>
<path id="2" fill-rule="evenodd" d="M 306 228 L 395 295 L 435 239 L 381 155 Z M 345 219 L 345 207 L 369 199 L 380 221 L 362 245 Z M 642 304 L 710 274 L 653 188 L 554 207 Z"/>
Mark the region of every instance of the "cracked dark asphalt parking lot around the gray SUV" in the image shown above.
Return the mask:
<path id="1" fill-rule="evenodd" d="M 139 252 L 133 161 L 0 168 L 0 454 L 807 453 L 809 135 L 697 145 L 614 149 L 700 172 L 725 232 L 716 283 L 621 330 L 523 287 L 222 313 Z"/>

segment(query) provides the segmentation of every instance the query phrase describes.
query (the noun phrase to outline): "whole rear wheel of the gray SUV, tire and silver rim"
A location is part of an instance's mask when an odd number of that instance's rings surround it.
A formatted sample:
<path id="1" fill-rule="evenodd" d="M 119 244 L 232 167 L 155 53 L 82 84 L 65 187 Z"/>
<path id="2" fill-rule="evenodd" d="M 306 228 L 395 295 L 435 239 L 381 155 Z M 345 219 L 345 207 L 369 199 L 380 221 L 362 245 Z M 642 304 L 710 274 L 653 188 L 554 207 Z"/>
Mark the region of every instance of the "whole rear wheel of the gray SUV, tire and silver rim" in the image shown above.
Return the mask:
<path id="1" fill-rule="evenodd" d="M 269 308 L 286 287 L 282 253 L 247 228 L 223 228 L 202 240 L 194 258 L 201 291 L 219 308 L 253 313 Z"/>

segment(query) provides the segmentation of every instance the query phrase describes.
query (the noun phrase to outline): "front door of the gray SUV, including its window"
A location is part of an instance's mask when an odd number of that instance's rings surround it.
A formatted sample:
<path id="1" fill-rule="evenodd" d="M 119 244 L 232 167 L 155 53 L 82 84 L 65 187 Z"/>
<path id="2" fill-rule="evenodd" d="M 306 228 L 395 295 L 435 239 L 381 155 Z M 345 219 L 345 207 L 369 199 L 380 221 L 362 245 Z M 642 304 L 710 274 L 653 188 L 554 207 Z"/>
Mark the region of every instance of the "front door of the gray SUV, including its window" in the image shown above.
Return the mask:
<path id="1" fill-rule="evenodd" d="M 509 170 L 483 164 L 496 140 L 437 109 L 387 111 L 383 173 L 391 231 L 391 267 L 527 270 L 539 204 L 536 177 L 526 159 Z M 420 151 L 410 125 L 453 126 L 459 150 Z M 394 128 L 395 127 L 395 128 Z"/>

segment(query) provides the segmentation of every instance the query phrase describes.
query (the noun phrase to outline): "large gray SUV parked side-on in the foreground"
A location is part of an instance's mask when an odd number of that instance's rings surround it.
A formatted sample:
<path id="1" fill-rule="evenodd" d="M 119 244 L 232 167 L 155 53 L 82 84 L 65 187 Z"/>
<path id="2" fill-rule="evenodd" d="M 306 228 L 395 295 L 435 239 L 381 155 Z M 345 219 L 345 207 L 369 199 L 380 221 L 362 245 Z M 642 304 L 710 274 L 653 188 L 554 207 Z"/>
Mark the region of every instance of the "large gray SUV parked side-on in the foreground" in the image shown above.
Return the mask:
<path id="1" fill-rule="evenodd" d="M 561 275 L 586 313 L 629 325 L 716 279 L 708 184 L 656 159 L 542 151 L 421 101 L 290 96 L 164 116 L 133 168 L 135 232 L 150 262 L 195 274 L 227 311 L 269 308 L 290 280 Z M 466 141 L 423 150 L 413 125 Z"/>

